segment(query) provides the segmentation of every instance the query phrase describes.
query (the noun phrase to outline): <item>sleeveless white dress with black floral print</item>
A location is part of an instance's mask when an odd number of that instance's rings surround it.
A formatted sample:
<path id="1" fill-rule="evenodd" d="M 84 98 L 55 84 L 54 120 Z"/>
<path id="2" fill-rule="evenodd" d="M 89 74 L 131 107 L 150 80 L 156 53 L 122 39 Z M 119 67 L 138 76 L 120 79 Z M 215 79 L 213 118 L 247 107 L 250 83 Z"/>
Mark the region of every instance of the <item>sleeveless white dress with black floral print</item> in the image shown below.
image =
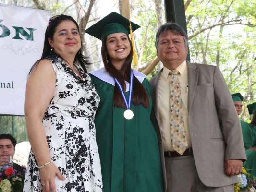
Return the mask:
<path id="1" fill-rule="evenodd" d="M 59 57 L 49 58 L 56 73 L 54 96 L 42 120 L 53 163 L 66 180 L 55 178 L 57 192 L 102 192 L 94 117 L 99 96 L 91 79 L 82 79 Z M 42 192 L 39 168 L 30 151 L 24 192 Z"/>

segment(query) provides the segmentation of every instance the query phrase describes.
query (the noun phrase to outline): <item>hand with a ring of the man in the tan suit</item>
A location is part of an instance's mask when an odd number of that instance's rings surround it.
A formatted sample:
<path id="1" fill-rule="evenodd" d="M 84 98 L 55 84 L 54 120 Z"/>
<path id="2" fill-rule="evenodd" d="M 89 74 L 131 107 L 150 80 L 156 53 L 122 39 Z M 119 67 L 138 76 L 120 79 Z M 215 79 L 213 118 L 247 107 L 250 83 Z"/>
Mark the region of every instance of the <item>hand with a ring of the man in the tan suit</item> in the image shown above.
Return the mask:
<path id="1" fill-rule="evenodd" d="M 225 173 L 227 175 L 239 175 L 242 167 L 243 161 L 240 159 L 229 159 L 225 161 Z"/>

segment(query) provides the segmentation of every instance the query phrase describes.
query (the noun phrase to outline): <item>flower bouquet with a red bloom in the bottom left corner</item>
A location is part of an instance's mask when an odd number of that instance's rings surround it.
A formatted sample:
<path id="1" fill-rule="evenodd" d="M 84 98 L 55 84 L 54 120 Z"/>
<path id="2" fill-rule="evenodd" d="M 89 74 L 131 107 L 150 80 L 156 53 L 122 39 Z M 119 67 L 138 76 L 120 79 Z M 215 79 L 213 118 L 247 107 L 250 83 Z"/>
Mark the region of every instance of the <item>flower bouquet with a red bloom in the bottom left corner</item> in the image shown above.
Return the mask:
<path id="1" fill-rule="evenodd" d="M 0 192 L 22 192 L 24 176 L 12 166 L 0 167 Z"/>

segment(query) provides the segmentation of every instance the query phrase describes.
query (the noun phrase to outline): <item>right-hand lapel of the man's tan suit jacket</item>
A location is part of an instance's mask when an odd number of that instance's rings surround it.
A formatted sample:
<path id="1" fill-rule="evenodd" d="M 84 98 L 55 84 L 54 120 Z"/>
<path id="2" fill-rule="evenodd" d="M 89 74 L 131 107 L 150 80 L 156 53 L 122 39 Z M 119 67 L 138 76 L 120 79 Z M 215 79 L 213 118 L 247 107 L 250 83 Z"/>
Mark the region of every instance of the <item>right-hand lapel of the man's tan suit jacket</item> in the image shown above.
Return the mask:
<path id="1" fill-rule="evenodd" d="M 199 69 L 195 66 L 194 63 L 190 63 L 188 61 L 187 61 L 187 66 L 188 66 L 188 112 L 189 112 L 195 96 L 195 89 L 197 86 Z"/>

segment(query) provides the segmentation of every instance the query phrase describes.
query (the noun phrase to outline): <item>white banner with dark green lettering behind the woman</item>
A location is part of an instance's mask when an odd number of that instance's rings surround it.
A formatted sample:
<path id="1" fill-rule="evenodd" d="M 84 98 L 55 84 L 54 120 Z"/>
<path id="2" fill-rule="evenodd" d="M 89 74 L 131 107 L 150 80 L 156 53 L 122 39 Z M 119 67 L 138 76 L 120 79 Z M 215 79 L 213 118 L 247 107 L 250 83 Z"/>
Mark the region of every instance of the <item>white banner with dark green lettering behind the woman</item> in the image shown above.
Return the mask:
<path id="1" fill-rule="evenodd" d="M 0 4 L 0 114 L 24 115 L 28 72 L 41 58 L 50 12 Z"/>

